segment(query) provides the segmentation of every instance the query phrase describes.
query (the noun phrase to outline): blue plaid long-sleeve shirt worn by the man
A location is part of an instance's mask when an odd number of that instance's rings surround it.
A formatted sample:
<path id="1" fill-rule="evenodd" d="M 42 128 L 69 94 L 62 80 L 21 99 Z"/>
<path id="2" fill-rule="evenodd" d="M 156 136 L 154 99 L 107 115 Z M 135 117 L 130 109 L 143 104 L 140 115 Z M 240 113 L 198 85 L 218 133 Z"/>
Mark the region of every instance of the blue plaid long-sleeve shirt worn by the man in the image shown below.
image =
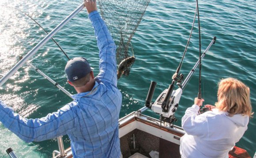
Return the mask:
<path id="1" fill-rule="evenodd" d="M 116 45 L 98 11 L 89 14 L 99 48 L 100 73 L 90 92 L 44 118 L 26 119 L 0 101 L 0 121 L 25 142 L 68 134 L 74 158 L 119 158 L 118 119 L 122 96 L 117 88 Z"/>

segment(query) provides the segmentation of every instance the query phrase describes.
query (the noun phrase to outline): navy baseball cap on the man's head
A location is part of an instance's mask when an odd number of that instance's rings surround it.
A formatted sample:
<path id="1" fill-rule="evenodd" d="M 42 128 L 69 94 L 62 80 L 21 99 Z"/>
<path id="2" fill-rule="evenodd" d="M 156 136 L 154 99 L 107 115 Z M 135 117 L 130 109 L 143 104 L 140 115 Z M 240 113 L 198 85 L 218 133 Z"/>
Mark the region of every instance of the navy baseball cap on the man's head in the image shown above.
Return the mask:
<path id="1" fill-rule="evenodd" d="M 83 57 L 77 57 L 69 60 L 65 67 L 65 73 L 67 75 L 68 81 L 74 82 L 83 77 L 85 77 L 91 70 L 87 59 Z"/>

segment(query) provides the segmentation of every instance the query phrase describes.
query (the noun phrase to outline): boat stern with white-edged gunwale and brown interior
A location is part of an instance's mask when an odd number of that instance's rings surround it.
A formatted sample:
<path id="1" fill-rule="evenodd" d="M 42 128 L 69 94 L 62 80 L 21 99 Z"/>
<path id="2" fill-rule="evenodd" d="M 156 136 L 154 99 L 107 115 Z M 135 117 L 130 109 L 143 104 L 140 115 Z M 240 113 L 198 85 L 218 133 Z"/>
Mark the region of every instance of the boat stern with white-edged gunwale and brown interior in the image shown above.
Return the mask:
<path id="1" fill-rule="evenodd" d="M 132 158 L 136 153 L 151 158 L 150 152 L 157 151 L 159 158 L 180 158 L 180 138 L 184 130 L 176 125 L 162 124 L 160 120 L 151 118 L 140 112 L 132 112 L 119 120 L 120 148 L 123 158 Z M 72 158 L 69 147 L 65 150 L 67 156 Z M 58 155 L 54 158 L 57 158 Z M 145 158 L 143 157 L 143 158 Z M 234 147 L 229 152 L 229 158 L 251 158 L 248 152 Z"/>

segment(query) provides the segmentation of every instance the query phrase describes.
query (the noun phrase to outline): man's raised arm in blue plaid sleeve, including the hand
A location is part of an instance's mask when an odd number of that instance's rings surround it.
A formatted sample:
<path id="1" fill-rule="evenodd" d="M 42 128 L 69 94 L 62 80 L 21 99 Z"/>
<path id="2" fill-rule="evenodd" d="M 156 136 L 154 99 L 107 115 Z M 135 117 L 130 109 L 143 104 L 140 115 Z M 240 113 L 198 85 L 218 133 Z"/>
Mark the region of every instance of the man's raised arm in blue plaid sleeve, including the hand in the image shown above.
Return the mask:
<path id="1" fill-rule="evenodd" d="M 84 3 L 89 13 L 90 21 L 94 27 L 99 48 L 100 73 L 97 78 L 102 82 L 108 82 L 117 86 L 116 44 L 114 43 L 105 22 L 97 11 L 96 0 L 84 0 Z"/>

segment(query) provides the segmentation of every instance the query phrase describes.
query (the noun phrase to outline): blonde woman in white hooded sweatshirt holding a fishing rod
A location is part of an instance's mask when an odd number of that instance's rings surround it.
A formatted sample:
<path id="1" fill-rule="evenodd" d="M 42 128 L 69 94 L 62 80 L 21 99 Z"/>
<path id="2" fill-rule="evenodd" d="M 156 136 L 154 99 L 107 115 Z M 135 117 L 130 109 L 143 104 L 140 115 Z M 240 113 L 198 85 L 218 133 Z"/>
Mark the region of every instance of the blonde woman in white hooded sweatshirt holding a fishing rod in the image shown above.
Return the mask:
<path id="1" fill-rule="evenodd" d="M 182 118 L 186 132 L 181 137 L 182 158 L 228 158 L 252 117 L 250 90 L 241 81 L 226 78 L 218 83 L 218 102 L 211 110 L 198 114 L 203 99 L 195 98 Z"/>

